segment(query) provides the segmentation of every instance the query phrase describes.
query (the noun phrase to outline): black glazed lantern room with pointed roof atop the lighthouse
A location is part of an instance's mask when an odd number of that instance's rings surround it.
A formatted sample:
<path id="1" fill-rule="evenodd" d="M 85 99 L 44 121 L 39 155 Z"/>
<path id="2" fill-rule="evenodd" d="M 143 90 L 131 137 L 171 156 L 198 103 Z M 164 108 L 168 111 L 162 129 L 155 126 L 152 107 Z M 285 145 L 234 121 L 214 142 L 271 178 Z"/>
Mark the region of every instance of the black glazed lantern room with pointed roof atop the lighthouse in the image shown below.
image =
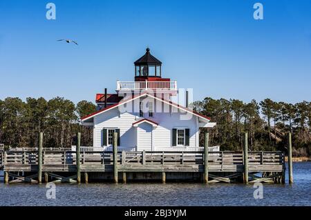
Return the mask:
<path id="1" fill-rule="evenodd" d="M 161 78 L 162 62 L 150 54 L 150 49 L 146 49 L 146 54 L 135 61 L 135 78 L 159 77 Z"/>

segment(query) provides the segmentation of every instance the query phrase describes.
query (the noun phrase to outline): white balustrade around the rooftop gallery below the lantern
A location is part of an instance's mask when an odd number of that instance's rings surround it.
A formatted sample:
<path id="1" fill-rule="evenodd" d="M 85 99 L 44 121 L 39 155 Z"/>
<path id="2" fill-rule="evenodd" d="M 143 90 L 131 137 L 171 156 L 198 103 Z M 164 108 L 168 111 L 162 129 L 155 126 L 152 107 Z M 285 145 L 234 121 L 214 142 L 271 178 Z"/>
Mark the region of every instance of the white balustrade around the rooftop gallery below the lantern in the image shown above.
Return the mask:
<path id="1" fill-rule="evenodd" d="M 117 81 L 117 90 L 177 90 L 177 81 Z"/>

